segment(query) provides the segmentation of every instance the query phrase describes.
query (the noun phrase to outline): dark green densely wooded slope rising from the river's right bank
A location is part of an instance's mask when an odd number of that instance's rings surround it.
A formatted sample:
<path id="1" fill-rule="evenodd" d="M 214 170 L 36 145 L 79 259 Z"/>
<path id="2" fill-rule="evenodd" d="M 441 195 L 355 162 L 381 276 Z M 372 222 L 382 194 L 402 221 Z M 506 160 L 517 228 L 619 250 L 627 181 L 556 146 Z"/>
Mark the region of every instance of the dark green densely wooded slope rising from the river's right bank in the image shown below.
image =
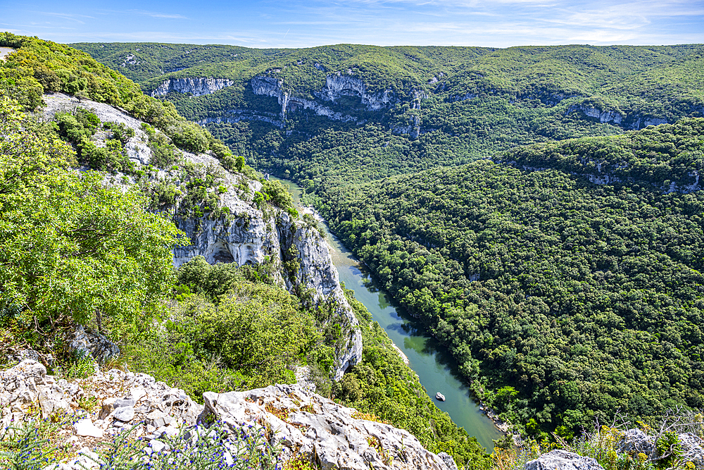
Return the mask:
<path id="1" fill-rule="evenodd" d="M 630 149 L 686 174 L 701 163 L 703 129 L 684 120 L 501 159 L 558 167 L 555 155 L 620 161 Z M 334 187 L 322 209 L 479 397 L 529 433 L 570 436 L 617 409 L 648 419 L 704 404 L 704 200 L 632 174 L 646 181 L 479 161 Z"/>

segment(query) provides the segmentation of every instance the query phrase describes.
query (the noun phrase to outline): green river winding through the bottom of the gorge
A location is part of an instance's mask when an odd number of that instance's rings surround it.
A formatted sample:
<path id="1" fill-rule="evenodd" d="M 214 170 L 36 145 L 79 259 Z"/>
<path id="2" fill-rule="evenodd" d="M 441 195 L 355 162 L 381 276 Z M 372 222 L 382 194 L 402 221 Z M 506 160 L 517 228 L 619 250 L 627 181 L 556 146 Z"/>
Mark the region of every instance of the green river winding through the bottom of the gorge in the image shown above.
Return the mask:
<path id="1" fill-rule="evenodd" d="M 294 196 L 296 209 L 301 210 L 301 187 L 289 180 L 271 178 L 281 181 Z M 327 241 L 332 247 L 332 262 L 340 274 L 345 287 L 354 291 L 355 297 L 362 302 L 372 314 L 372 318 L 386 330 L 389 338 L 396 343 L 403 354 L 408 357 L 409 366 L 420 378 L 420 383 L 433 397 L 439 409 L 447 412 L 458 426 L 474 435 L 487 450 L 494 448 L 493 439 L 502 436 L 494 422 L 481 410 L 470 397 L 470 390 L 458 380 L 444 358 L 441 347 L 434 347 L 432 338 L 423 335 L 413 326 L 411 319 L 398 314 L 382 290 L 375 285 L 370 276 L 363 271 L 359 261 L 323 224 Z M 446 359 L 446 360 L 443 360 Z M 435 400 L 435 393 L 441 392 L 446 401 Z"/>

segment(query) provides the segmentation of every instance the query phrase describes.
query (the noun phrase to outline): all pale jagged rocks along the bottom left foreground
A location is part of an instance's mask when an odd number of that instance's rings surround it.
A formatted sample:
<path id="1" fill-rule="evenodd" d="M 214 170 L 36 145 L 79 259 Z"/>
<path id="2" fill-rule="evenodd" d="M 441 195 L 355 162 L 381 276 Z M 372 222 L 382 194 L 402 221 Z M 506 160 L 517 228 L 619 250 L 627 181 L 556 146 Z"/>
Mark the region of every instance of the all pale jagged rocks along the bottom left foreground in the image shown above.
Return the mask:
<path id="1" fill-rule="evenodd" d="M 94 450 L 127 431 L 144 446 L 140 458 L 147 461 L 168 452 L 173 438 L 192 439 L 196 425 L 202 429 L 216 422 L 229 434 L 221 443 L 226 462 L 237 458 L 242 431 L 255 428 L 265 430 L 269 444 L 281 449 L 282 461 L 299 459 L 324 470 L 456 468 L 449 455 L 425 450 L 408 431 L 363 419 L 355 409 L 301 385 L 206 392 L 203 399 L 205 406 L 147 374 L 117 369 L 68 382 L 46 375 L 42 364 L 25 359 L 0 372 L 4 428 L 32 416 L 72 415 L 59 431 L 61 442 L 54 444 L 70 445 L 75 452 L 47 470 L 97 469 L 101 457 Z"/>

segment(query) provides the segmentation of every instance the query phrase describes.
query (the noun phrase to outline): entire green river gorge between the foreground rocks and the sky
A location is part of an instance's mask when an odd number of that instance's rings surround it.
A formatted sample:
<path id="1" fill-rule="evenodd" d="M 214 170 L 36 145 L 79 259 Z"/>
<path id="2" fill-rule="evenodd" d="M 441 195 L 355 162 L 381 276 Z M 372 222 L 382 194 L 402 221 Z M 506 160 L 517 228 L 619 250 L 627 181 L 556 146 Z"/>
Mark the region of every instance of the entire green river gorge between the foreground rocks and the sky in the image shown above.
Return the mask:
<path id="1" fill-rule="evenodd" d="M 704 407 L 700 44 L 0 46 L 4 364 L 85 327 L 477 470 L 519 457 L 474 397 L 532 451 Z"/>

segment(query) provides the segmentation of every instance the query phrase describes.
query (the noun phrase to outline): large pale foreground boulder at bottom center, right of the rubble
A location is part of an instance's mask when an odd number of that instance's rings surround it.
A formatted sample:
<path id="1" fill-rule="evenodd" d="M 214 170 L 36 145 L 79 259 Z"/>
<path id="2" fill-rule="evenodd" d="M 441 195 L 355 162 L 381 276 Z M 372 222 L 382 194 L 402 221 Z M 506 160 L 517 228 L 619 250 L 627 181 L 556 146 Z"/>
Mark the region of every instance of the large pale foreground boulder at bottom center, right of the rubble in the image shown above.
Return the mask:
<path id="1" fill-rule="evenodd" d="M 203 394 L 201 421 L 223 421 L 233 435 L 259 424 L 281 445 L 284 462 L 304 459 L 316 468 L 448 470 L 415 436 L 389 424 L 359 419 L 356 410 L 298 385 L 249 392 Z"/>

